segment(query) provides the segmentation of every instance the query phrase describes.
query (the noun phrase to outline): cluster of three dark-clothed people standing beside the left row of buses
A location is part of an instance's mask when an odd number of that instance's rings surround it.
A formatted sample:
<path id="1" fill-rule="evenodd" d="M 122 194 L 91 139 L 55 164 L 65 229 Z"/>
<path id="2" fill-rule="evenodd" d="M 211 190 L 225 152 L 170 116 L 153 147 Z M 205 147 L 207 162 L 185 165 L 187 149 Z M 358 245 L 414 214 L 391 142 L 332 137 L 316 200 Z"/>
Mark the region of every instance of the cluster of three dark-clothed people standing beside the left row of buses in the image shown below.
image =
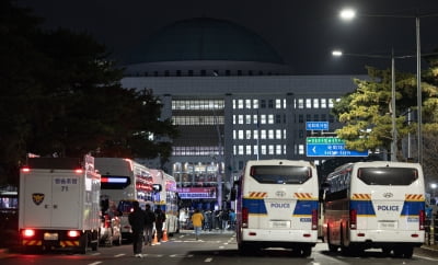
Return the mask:
<path id="1" fill-rule="evenodd" d="M 145 206 L 146 209 L 142 210 L 137 200 L 132 203 L 132 208 L 134 210 L 129 214 L 128 220 L 132 230 L 134 255 L 142 257 L 143 240 L 145 244 L 152 244 L 153 224 L 155 224 L 157 241 L 161 241 L 165 214 L 160 208 L 157 208 L 153 212 L 148 204 Z"/>

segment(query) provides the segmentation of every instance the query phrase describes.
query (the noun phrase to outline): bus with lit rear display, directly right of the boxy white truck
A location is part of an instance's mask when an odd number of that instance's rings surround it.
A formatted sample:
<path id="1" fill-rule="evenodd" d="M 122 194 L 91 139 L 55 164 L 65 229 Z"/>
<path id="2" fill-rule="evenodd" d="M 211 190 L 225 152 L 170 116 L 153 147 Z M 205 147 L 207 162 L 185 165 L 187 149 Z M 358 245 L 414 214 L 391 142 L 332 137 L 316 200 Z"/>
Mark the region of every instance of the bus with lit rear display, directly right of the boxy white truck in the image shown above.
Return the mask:
<path id="1" fill-rule="evenodd" d="M 101 174 L 101 196 L 114 203 L 120 215 L 122 238 L 130 240 L 128 215 L 132 209 L 132 201 L 153 204 L 153 177 L 150 170 L 130 159 L 95 158 L 95 168 Z"/>

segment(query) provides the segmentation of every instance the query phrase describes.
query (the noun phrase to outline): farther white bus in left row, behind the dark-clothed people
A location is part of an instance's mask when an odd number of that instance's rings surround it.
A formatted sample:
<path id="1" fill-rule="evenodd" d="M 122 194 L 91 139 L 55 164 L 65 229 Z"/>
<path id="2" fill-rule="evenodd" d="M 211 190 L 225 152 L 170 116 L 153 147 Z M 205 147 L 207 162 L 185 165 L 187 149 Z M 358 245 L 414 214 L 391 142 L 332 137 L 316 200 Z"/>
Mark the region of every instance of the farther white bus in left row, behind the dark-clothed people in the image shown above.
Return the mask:
<path id="1" fill-rule="evenodd" d="M 162 170 L 150 170 L 154 184 L 161 186 L 161 191 L 153 195 L 154 208 L 160 207 L 165 212 L 165 224 L 163 229 L 169 235 L 178 232 L 178 196 L 176 193 L 176 181 Z"/>

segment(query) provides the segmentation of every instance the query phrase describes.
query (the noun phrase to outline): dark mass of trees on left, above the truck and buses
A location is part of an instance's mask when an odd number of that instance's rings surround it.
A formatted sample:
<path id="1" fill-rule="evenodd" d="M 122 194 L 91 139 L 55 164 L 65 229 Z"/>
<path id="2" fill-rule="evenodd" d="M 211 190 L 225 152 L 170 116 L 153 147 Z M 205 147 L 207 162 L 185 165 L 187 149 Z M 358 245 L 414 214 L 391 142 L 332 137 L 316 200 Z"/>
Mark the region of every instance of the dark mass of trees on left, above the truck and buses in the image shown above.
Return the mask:
<path id="1" fill-rule="evenodd" d="M 0 4 L 0 184 L 16 184 L 27 153 L 168 160 L 176 128 L 151 90 L 122 88 L 104 45 Z"/>

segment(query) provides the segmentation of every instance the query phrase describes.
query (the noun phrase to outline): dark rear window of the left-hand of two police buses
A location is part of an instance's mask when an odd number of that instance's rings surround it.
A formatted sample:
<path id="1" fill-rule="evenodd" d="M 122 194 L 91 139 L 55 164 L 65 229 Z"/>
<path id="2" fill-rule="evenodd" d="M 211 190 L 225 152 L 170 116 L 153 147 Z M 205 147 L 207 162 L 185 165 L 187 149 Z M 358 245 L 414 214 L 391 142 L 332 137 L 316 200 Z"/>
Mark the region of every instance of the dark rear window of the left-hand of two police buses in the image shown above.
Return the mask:
<path id="1" fill-rule="evenodd" d="M 262 184 L 302 184 L 312 177 L 308 166 L 253 165 L 250 175 Z"/>

